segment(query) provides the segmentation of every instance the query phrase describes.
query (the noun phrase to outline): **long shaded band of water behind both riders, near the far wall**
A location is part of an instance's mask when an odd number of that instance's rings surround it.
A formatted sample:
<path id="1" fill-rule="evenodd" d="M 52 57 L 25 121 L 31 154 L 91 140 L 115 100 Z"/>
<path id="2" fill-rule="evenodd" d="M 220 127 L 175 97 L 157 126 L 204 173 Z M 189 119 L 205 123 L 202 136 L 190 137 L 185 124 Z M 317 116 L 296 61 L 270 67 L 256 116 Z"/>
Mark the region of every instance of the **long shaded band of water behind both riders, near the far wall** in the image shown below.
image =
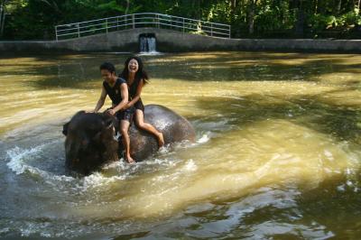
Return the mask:
<path id="1" fill-rule="evenodd" d="M 41 79 L 31 82 L 36 88 L 88 88 L 84 83 L 100 80 L 98 66 L 104 61 L 116 64 L 118 72 L 129 55 L 79 54 L 30 57 L 19 65 L 6 62 L 3 72 L 32 74 Z M 193 56 L 193 57 L 192 57 Z M 352 55 L 316 55 L 307 53 L 216 52 L 143 56 L 151 78 L 175 78 L 187 81 L 319 81 L 330 73 L 361 73 L 361 64 L 349 64 Z M 4 58 L 2 58 L 4 59 Z M 12 66 L 16 66 L 12 70 Z M 21 66 L 21 69 L 19 69 Z"/>

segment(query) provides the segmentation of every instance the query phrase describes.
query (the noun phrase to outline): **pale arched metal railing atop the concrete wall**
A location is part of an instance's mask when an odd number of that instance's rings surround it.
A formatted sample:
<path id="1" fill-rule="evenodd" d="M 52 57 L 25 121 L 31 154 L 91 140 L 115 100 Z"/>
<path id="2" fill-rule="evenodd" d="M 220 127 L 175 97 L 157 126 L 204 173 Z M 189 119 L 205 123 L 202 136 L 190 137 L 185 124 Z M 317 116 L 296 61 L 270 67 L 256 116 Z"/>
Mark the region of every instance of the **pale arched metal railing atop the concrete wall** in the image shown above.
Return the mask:
<path id="1" fill-rule="evenodd" d="M 212 37 L 230 38 L 231 36 L 231 26 L 227 24 L 155 13 L 126 14 L 87 22 L 57 25 L 55 26 L 55 36 L 58 41 L 140 27 L 171 29 Z"/>

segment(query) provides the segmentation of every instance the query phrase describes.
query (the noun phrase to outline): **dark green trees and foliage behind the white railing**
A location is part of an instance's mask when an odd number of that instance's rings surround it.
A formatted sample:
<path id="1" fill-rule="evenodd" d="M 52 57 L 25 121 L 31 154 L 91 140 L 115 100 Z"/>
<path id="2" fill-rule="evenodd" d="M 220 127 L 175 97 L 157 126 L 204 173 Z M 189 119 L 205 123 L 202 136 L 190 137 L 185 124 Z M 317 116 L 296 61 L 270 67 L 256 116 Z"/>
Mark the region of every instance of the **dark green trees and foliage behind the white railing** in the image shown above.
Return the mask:
<path id="1" fill-rule="evenodd" d="M 361 25 L 355 0 L 0 0 L 1 3 L 5 3 L 7 40 L 54 39 L 57 24 L 139 12 L 228 23 L 233 37 L 285 37 L 284 32 L 292 37 L 300 28 L 304 37 L 312 37 L 320 32 L 357 32 Z"/>

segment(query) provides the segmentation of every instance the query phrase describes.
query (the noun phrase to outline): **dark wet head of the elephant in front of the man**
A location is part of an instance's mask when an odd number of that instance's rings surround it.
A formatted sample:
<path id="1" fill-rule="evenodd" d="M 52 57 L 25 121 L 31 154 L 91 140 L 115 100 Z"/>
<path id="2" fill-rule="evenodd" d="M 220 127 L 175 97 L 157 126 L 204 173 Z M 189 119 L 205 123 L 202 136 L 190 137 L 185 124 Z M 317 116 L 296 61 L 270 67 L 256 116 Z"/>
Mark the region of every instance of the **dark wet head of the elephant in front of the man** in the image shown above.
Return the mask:
<path id="1" fill-rule="evenodd" d="M 114 139 L 116 118 L 112 115 L 78 112 L 63 125 L 66 135 L 66 165 L 88 175 L 106 162 L 118 160 L 118 143 Z"/>

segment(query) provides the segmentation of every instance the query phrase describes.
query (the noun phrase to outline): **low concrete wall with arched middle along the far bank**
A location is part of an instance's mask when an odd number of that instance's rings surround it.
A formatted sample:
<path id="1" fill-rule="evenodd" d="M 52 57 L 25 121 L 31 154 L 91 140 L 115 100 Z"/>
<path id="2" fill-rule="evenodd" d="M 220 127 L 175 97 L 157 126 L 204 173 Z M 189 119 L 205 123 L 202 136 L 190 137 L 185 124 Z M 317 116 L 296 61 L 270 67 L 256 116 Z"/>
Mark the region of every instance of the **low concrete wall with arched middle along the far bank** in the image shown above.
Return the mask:
<path id="1" fill-rule="evenodd" d="M 0 51 L 139 51 L 139 35 L 153 33 L 157 50 L 178 51 L 332 51 L 361 52 L 361 40 L 222 39 L 178 31 L 138 28 L 79 39 L 0 42 Z"/>

